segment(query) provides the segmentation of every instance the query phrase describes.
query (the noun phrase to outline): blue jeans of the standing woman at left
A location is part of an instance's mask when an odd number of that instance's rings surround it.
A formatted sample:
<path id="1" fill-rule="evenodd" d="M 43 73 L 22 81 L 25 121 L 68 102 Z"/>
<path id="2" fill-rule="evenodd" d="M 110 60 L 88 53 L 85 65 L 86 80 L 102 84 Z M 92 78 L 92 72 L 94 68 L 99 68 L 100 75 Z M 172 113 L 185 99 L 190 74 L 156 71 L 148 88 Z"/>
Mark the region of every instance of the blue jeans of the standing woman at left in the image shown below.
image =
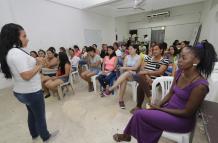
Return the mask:
<path id="1" fill-rule="evenodd" d="M 45 101 L 42 91 L 34 93 L 16 93 L 15 97 L 26 105 L 28 111 L 28 126 L 32 138 L 40 135 L 43 141 L 49 139 L 45 117 Z"/>

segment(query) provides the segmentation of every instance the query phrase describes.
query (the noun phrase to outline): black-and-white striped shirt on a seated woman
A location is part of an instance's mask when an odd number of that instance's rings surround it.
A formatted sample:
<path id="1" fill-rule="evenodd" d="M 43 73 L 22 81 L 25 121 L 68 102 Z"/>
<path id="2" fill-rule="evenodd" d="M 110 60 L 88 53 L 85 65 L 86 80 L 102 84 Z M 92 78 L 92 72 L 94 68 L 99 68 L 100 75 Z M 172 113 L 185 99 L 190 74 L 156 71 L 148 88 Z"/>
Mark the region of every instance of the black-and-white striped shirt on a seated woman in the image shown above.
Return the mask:
<path id="1" fill-rule="evenodd" d="M 167 58 L 161 58 L 160 61 L 154 61 L 154 59 L 151 56 L 145 56 L 144 60 L 147 64 L 145 65 L 145 70 L 147 71 L 156 71 L 160 68 L 160 66 L 165 65 L 168 67 L 169 60 Z M 152 80 L 159 76 L 150 76 Z"/>

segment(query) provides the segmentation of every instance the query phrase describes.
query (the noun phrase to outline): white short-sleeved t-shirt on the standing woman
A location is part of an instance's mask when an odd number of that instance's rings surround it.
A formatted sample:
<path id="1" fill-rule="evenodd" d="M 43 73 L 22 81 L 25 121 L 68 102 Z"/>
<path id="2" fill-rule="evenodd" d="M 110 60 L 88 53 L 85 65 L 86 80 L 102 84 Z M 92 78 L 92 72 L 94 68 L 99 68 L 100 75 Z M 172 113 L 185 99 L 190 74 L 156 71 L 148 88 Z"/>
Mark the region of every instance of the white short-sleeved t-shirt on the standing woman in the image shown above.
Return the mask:
<path id="1" fill-rule="evenodd" d="M 20 73 L 32 70 L 36 60 L 18 48 L 12 48 L 7 55 L 7 63 L 13 77 L 13 91 L 17 93 L 33 93 L 42 89 L 40 74 L 30 80 L 24 80 Z"/>

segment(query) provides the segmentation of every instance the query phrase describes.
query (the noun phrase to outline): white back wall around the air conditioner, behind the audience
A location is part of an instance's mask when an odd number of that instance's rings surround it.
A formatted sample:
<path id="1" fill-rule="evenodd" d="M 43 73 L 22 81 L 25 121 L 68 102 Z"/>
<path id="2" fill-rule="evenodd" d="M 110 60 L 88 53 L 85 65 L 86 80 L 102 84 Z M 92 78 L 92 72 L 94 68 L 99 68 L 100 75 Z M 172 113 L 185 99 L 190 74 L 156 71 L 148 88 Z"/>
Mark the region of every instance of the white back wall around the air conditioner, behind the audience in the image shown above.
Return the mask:
<path id="1" fill-rule="evenodd" d="M 146 15 L 148 15 L 148 13 L 117 17 L 115 19 L 115 23 L 116 27 L 118 27 L 117 25 L 119 25 L 119 27 L 127 27 L 125 29 L 126 31 L 129 31 L 130 29 L 138 29 L 139 37 L 145 34 L 150 36 L 152 27 L 164 26 L 165 41 L 168 44 L 172 44 L 175 39 L 180 41 L 190 41 L 194 27 L 200 23 L 202 7 L 203 3 L 196 3 L 170 8 L 168 9 L 171 12 L 171 16 L 169 18 L 153 21 L 148 21 L 146 19 Z M 120 19 L 125 19 L 127 23 L 123 24 L 122 26 L 122 23 L 119 23 Z M 121 40 L 123 40 L 122 37 L 128 36 L 128 32 L 127 34 L 123 32 L 125 30 L 122 29 L 122 31 L 118 31 L 118 33 L 121 35 Z"/>

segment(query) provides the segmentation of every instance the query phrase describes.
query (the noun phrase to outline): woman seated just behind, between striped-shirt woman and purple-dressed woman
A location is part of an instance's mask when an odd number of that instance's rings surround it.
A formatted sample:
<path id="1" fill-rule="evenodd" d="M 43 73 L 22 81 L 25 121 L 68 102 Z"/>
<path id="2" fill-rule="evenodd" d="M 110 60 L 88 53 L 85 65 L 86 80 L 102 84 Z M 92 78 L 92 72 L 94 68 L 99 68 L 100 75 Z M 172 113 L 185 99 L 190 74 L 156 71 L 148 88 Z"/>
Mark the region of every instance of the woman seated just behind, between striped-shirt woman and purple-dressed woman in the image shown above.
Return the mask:
<path id="1" fill-rule="evenodd" d="M 177 52 L 178 51 L 176 46 L 170 46 L 168 53 L 165 54 L 165 57 L 169 59 L 169 66 L 167 68 L 167 71 L 164 73 L 164 76 L 175 75 L 177 69 L 177 62 L 178 62 Z"/>

